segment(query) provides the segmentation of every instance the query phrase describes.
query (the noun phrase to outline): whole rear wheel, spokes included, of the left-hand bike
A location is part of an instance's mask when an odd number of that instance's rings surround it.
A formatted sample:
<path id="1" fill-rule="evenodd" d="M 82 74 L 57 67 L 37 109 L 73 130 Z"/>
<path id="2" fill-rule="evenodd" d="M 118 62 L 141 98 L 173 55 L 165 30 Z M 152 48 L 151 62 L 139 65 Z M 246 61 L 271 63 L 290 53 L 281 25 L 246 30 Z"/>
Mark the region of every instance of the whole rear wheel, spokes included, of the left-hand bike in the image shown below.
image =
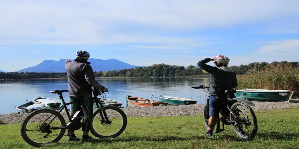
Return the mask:
<path id="1" fill-rule="evenodd" d="M 41 109 L 30 113 L 26 117 L 21 125 L 20 132 L 25 142 L 39 147 L 47 143 L 58 142 L 64 135 L 65 129 L 55 128 L 61 127 L 65 127 L 65 119 L 60 113 L 51 109 Z"/>

